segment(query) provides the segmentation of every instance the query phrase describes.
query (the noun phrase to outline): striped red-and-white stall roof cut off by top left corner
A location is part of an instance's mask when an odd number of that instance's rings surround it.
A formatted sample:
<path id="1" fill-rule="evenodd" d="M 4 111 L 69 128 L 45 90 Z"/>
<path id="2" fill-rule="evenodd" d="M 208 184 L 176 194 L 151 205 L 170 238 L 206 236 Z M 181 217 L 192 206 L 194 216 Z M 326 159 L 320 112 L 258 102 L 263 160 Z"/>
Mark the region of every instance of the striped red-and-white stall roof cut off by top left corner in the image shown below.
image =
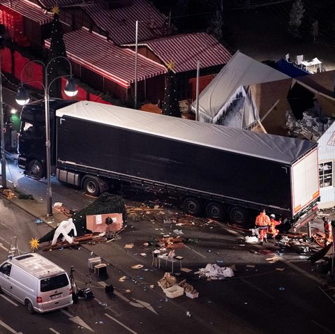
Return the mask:
<path id="1" fill-rule="evenodd" d="M 0 0 L 0 6 L 4 6 L 10 10 L 27 17 L 29 20 L 38 24 L 46 24 L 52 21 L 52 14 L 47 14 L 45 10 L 31 1 L 27 0 Z"/>

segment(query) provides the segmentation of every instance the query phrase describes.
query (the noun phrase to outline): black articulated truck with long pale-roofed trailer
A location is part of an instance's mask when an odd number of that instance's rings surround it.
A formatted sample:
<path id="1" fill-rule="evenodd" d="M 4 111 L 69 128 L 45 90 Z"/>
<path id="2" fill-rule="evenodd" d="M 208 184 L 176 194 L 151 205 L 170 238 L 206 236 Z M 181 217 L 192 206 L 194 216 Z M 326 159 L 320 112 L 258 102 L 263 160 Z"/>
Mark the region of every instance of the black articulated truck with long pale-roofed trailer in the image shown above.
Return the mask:
<path id="1" fill-rule="evenodd" d="M 318 144 L 90 101 L 50 100 L 57 179 L 89 195 L 127 182 L 178 195 L 184 211 L 239 225 L 265 209 L 290 226 L 315 218 Z M 21 113 L 18 165 L 45 177 L 44 102 Z"/>

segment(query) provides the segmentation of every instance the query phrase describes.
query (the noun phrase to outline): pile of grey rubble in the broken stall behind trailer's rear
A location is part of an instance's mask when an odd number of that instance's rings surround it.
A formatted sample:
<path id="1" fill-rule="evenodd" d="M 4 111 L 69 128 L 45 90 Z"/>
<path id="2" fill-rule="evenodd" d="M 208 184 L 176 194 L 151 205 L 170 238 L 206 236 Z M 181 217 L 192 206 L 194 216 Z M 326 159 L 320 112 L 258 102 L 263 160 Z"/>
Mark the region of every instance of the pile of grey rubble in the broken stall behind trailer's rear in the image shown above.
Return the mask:
<path id="1" fill-rule="evenodd" d="M 334 119 L 329 116 L 322 118 L 315 116 L 313 111 L 306 110 L 302 113 L 303 118 L 297 120 L 291 110 L 286 112 L 286 126 L 290 130 L 290 136 L 302 136 L 317 142 L 322 134 L 332 125 Z"/>

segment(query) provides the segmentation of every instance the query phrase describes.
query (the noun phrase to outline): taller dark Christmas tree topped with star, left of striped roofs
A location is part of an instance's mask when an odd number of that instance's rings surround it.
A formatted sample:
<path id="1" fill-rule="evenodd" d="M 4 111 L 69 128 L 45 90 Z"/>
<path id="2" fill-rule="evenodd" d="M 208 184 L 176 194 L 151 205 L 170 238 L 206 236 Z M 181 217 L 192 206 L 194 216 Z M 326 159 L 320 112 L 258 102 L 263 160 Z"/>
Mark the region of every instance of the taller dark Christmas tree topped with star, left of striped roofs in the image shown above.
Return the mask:
<path id="1" fill-rule="evenodd" d="M 68 74 L 70 69 L 68 62 L 65 59 L 57 58 L 58 56 L 66 57 L 66 48 L 63 39 L 63 29 L 61 27 L 61 22 L 59 21 L 59 7 L 54 6 L 52 8 L 52 13 L 54 15 L 51 27 L 51 38 L 50 38 L 50 50 L 47 57 L 47 81 L 52 82 L 52 80 L 57 77 Z M 53 60 L 54 59 L 54 60 Z M 50 98 L 61 98 L 61 79 L 57 79 L 50 86 Z"/>

